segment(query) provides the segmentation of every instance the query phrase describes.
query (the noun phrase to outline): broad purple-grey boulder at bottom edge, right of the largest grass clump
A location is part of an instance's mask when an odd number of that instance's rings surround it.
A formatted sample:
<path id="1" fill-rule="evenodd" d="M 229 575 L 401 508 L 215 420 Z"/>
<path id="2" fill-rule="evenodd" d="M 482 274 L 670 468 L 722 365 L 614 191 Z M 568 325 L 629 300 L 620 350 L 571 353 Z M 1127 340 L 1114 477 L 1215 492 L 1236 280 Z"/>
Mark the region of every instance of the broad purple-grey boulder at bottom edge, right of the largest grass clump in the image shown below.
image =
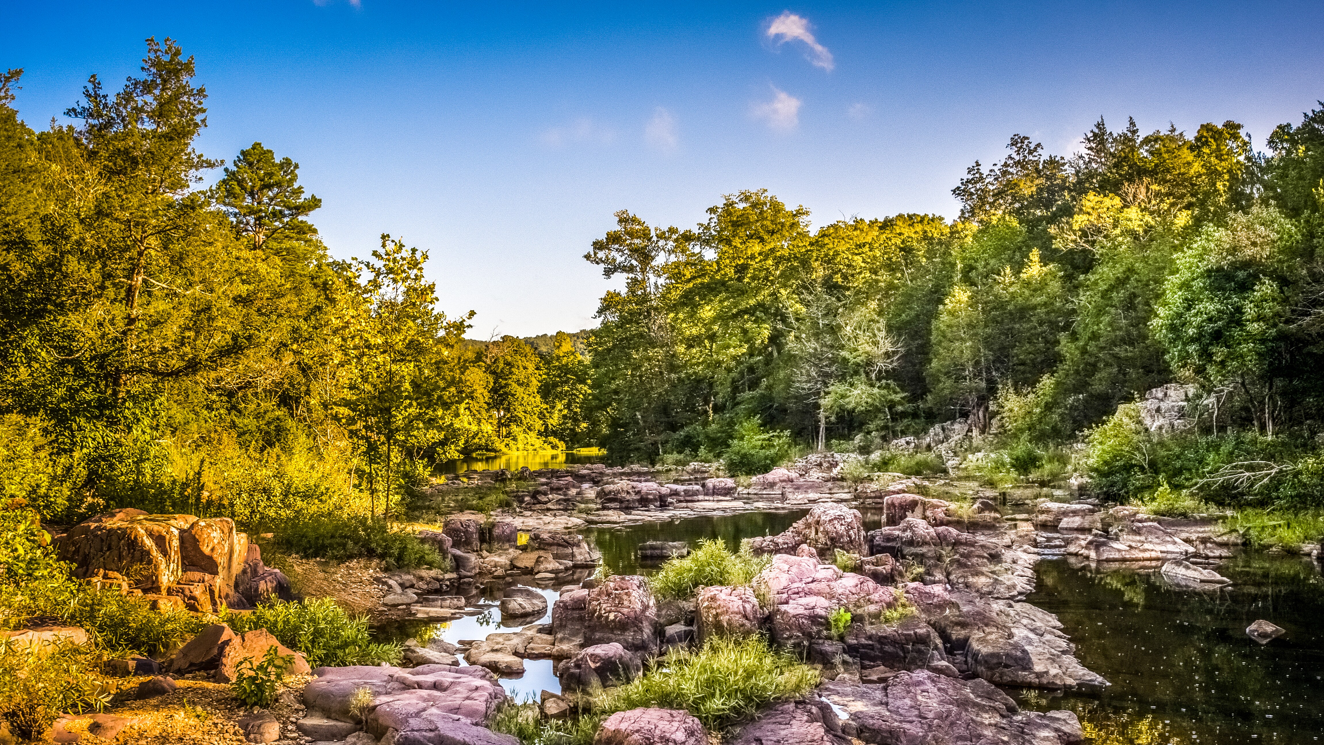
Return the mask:
<path id="1" fill-rule="evenodd" d="M 865 742 L 1067 745 L 1083 738 L 1072 712 L 1022 712 L 996 685 L 927 670 L 878 684 L 824 683 L 820 695 L 849 715 Z"/>

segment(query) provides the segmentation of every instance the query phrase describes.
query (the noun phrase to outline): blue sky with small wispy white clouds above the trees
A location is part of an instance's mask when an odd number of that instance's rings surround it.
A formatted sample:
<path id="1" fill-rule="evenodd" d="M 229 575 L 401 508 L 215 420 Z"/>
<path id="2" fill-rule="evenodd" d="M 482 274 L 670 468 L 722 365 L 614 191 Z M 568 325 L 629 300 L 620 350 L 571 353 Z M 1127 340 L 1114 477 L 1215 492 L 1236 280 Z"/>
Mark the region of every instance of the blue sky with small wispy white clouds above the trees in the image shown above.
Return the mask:
<path id="1" fill-rule="evenodd" d="M 768 188 L 814 225 L 952 217 L 1014 132 L 1067 153 L 1100 115 L 1235 119 L 1260 147 L 1324 98 L 1317 1 L 479 5 L 5 1 L 0 66 L 42 127 L 179 40 L 201 150 L 294 157 L 332 254 L 426 249 L 474 337 L 594 326 L 609 283 L 580 257 L 617 209 L 688 226 Z"/>

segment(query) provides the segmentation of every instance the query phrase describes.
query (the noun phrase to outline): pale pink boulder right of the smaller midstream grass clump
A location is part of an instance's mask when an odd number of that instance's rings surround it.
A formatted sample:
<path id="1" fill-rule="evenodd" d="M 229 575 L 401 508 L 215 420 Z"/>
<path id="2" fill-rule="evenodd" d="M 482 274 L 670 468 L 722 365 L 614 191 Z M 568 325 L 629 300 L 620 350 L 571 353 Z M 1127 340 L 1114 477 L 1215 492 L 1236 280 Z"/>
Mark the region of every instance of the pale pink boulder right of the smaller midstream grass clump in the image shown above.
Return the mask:
<path id="1" fill-rule="evenodd" d="M 828 617 L 838 609 L 867 621 L 899 602 L 891 588 L 805 556 L 773 556 L 753 588 L 771 598 L 772 636 L 782 643 L 826 638 Z"/>

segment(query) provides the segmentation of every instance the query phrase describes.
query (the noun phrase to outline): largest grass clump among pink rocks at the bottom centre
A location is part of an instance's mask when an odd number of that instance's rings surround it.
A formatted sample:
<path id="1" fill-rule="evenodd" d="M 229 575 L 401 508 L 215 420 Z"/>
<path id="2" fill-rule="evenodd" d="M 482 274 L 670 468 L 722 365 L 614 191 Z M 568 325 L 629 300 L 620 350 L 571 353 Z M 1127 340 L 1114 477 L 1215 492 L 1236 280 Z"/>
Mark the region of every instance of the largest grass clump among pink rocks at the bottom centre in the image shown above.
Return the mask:
<path id="1" fill-rule="evenodd" d="M 816 670 L 763 636 L 714 636 L 699 650 L 673 648 L 639 678 L 604 691 L 594 711 L 685 709 L 710 732 L 720 732 L 773 701 L 804 696 L 817 684 Z"/>

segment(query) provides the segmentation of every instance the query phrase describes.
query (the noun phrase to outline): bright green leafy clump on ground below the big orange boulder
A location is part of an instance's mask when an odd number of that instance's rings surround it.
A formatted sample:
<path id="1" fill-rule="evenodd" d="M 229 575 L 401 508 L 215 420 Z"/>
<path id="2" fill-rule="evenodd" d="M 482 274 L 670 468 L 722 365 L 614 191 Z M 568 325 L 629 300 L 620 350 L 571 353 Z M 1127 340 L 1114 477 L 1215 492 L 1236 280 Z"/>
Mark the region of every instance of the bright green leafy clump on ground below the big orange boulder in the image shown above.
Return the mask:
<path id="1" fill-rule="evenodd" d="M 402 651 L 400 644 L 373 642 L 368 619 L 350 615 L 330 598 L 277 601 L 250 613 L 226 614 L 225 622 L 240 634 L 266 629 L 286 647 L 303 652 L 310 667 L 396 664 Z"/>

